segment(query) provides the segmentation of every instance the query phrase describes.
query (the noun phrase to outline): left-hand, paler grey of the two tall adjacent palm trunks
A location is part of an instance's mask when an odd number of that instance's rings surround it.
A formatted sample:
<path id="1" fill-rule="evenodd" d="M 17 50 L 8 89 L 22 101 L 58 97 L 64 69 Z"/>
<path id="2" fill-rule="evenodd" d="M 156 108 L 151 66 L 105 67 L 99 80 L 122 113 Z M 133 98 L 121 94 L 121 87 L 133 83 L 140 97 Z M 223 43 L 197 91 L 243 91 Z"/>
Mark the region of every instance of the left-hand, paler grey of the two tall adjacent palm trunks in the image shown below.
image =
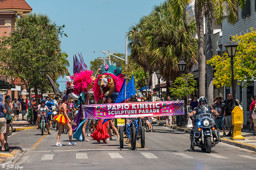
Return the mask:
<path id="1" fill-rule="evenodd" d="M 198 4 L 200 3 L 200 4 Z M 195 16 L 198 35 L 198 85 L 199 97 L 205 96 L 204 18 L 201 0 L 195 1 Z"/>

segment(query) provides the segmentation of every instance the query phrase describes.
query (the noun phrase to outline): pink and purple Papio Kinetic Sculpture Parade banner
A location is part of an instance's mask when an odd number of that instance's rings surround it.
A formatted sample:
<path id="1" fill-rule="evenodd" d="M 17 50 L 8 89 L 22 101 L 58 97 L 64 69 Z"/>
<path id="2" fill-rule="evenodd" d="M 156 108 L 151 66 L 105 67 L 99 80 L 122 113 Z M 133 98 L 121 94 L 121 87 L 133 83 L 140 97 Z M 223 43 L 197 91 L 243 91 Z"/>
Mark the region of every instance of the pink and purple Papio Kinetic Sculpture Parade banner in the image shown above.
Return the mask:
<path id="1" fill-rule="evenodd" d="M 131 117 L 182 115 L 184 101 L 115 103 L 83 105 L 88 119 L 113 119 Z"/>

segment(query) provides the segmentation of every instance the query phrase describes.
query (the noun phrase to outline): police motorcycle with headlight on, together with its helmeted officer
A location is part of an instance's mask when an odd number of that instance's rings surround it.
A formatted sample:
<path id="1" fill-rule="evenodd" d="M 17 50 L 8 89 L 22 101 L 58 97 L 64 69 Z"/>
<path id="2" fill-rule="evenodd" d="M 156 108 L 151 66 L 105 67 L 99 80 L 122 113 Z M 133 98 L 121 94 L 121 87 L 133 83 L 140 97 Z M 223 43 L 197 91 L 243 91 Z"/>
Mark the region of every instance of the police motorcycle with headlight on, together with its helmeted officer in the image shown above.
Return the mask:
<path id="1" fill-rule="evenodd" d="M 203 99 L 206 100 L 205 97 Z M 207 100 L 205 103 L 207 103 Z M 192 110 L 188 112 L 191 113 Z M 194 115 L 197 123 L 195 125 L 195 129 L 190 132 L 191 148 L 189 151 L 194 151 L 193 145 L 195 145 L 201 148 L 202 151 L 210 153 L 212 151 L 212 147 L 216 146 L 216 144 L 220 142 L 220 133 L 215 127 L 215 113 L 211 113 L 211 109 L 207 104 L 199 105 L 199 109 Z"/>

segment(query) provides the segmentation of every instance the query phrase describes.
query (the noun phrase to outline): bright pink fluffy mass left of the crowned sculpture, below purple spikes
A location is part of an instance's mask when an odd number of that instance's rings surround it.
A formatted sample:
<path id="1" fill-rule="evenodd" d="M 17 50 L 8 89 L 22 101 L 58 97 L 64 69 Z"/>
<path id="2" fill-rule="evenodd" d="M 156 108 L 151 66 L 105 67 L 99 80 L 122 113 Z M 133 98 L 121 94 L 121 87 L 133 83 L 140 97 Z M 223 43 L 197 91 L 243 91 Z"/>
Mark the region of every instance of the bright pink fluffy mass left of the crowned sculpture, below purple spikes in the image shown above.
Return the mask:
<path id="1" fill-rule="evenodd" d="M 76 73 L 72 76 L 72 79 L 74 80 L 74 88 L 75 88 L 75 94 L 80 95 L 81 92 L 87 92 L 85 90 L 90 84 L 92 84 L 92 73 L 91 70 L 85 70 L 81 71 L 80 73 Z"/>

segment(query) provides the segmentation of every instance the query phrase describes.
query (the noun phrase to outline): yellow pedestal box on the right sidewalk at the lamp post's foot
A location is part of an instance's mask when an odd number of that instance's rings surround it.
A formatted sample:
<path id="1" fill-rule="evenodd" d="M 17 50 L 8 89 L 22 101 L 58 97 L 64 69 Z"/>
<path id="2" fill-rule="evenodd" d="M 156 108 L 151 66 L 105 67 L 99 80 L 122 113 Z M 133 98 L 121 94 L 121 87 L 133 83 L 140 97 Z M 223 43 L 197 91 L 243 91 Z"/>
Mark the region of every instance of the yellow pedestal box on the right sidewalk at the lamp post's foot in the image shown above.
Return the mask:
<path id="1" fill-rule="evenodd" d="M 232 124 L 234 126 L 232 140 L 245 140 L 241 135 L 241 125 L 244 123 L 243 110 L 236 106 L 232 111 Z"/>

